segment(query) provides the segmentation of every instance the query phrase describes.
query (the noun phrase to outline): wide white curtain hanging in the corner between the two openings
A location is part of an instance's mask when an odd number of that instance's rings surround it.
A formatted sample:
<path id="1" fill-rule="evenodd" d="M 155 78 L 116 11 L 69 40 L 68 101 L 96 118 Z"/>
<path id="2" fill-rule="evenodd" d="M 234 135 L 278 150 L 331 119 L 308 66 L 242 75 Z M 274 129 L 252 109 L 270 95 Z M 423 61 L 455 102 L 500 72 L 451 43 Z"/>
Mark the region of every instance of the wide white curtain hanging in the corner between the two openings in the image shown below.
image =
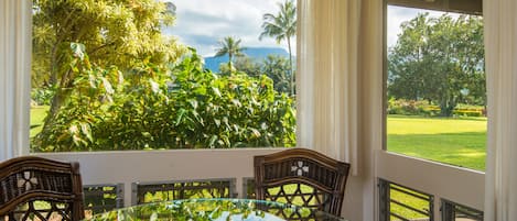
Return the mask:
<path id="1" fill-rule="evenodd" d="M 380 84 L 362 76 L 367 68 L 359 64 L 379 67 L 375 75 L 381 79 L 381 49 L 370 63 L 359 60 L 363 48 L 373 44 L 368 41 L 380 43 L 381 35 L 376 35 L 377 38 L 359 35 L 371 33 L 365 29 L 378 29 L 378 34 L 381 33 L 380 23 L 375 23 L 380 21 L 377 18 L 381 13 L 369 14 L 362 8 L 379 3 L 376 0 L 299 1 L 298 144 L 351 163 L 353 175 L 358 173 L 359 146 L 362 139 L 366 139 L 360 133 L 362 112 L 371 108 L 363 99 L 371 87 L 362 86 Z M 379 89 L 375 91 L 381 98 L 381 85 L 373 87 Z"/>

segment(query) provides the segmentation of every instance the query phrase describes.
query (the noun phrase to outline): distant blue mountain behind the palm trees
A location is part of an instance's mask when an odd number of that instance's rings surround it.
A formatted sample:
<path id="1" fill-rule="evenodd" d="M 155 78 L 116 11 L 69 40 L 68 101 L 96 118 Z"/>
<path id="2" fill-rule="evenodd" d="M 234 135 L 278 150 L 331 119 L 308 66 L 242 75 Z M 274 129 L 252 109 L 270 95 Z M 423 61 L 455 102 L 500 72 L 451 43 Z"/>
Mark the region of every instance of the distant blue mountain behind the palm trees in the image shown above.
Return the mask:
<path id="1" fill-rule="evenodd" d="M 268 55 L 289 57 L 289 53 L 281 47 L 247 47 L 245 51 L 243 51 L 243 53 L 257 62 L 266 59 Z M 219 71 L 220 63 L 228 63 L 228 56 L 205 57 L 205 68 L 212 70 L 213 73 Z"/>

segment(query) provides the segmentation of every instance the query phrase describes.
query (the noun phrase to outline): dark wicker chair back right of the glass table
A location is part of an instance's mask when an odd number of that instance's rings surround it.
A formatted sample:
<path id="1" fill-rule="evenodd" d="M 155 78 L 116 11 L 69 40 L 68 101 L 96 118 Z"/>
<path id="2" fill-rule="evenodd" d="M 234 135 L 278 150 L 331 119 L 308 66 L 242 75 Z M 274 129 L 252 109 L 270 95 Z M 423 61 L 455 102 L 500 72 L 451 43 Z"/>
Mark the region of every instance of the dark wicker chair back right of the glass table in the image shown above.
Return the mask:
<path id="1" fill-rule="evenodd" d="M 257 199 L 341 216 L 349 164 L 308 148 L 289 148 L 255 156 L 254 164 Z M 288 220 L 303 220 L 302 214 L 278 213 Z"/>

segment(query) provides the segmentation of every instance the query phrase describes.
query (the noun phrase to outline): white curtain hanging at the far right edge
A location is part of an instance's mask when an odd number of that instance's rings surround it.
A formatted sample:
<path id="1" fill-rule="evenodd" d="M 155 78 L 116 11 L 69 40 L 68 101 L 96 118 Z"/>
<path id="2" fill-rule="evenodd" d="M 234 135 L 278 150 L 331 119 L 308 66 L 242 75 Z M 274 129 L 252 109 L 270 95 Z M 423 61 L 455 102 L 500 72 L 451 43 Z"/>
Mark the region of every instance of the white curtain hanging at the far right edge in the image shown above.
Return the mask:
<path id="1" fill-rule="evenodd" d="M 517 220 L 517 1 L 484 1 L 488 145 L 485 220 Z"/>

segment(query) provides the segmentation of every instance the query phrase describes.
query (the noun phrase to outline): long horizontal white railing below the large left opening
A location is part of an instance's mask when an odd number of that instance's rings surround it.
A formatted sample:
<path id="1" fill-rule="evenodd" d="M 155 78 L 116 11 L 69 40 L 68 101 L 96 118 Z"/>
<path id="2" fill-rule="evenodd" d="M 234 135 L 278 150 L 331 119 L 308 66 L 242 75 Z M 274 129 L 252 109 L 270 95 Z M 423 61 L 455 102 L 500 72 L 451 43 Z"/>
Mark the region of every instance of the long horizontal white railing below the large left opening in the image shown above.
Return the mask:
<path id="1" fill-rule="evenodd" d="M 133 183 L 235 178 L 244 198 L 245 178 L 254 177 L 254 156 L 283 148 L 119 151 L 44 153 L 39 156 L 79 162 L 84 185 L 123 184 L 123 205 L 131 205 Z"/>

